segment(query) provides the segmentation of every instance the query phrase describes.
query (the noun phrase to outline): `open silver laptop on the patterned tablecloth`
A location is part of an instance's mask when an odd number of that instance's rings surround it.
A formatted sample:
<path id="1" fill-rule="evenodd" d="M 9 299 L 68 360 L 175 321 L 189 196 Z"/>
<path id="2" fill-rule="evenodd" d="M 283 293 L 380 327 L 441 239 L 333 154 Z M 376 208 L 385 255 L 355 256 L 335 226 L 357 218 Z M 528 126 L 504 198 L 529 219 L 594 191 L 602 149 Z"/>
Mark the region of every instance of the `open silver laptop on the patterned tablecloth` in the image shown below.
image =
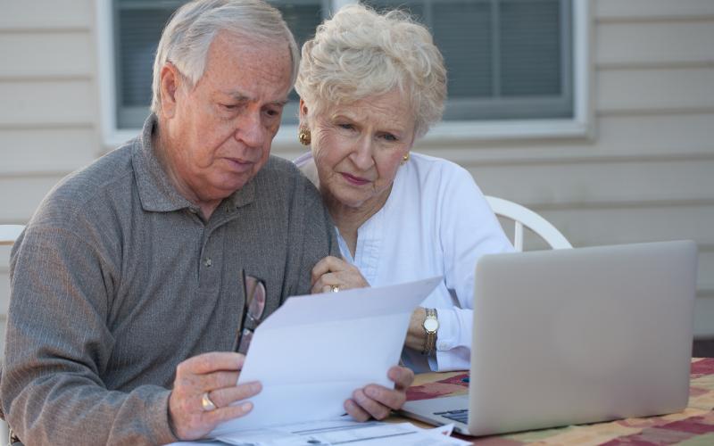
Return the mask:
<path id="1" fill-rule="evenodd" d="M 484 435 L 684 409 L 696 265 L 691 241 L 484 256 L 469 395 L 404 415 Z"/>

